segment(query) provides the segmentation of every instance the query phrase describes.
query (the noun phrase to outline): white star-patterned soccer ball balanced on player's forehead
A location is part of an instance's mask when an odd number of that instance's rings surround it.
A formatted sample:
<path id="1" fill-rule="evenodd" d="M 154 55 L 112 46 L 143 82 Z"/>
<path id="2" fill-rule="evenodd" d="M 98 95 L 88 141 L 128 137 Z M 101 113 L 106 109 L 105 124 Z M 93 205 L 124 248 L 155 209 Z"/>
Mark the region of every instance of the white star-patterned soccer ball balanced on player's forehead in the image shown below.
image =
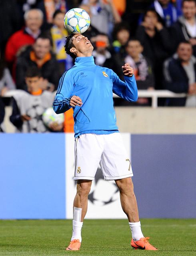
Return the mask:
<path id="1" fill-rule="evenodd" d="M 84 33 L 90 25 L 88 12 L 81 8 L 73 8 L 69 10 L 64 16 L 64 25 L 70 33 Z"/>

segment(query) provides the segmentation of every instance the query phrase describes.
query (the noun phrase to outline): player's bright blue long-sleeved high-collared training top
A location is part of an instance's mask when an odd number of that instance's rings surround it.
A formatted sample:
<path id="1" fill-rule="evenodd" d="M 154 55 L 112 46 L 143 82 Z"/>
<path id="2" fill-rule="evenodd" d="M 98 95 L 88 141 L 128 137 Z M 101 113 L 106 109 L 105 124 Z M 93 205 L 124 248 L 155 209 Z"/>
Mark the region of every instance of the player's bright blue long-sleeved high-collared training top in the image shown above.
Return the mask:
<path id="1" fill-rule="evenodd" d="M 127 101 L 137 101 L 138 89 L 134 76 L 121 81 L 111 69 L 96 66 L 94 58 L 77 57 L 58 85 L 53 103 L 57 114 L 64 113 L 76 95 L 83 105 L 74 109 L 75 137 L 84 133 L 108 134 L 118 131 L 113 106 L 113 92 Z"/>

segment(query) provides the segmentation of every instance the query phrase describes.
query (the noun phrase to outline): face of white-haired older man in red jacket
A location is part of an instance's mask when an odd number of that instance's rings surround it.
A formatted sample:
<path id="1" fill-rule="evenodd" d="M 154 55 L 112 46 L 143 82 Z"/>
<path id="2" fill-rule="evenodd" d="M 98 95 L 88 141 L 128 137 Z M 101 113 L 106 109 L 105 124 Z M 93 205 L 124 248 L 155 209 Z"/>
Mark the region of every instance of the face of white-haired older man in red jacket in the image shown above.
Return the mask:
<path id="1" fill-rule="evenodd" d="M 40 13 L 36 10 L 30 10 L 27 19 L 25 20 L 26 26 L 28 26 L 33 32 L 36 32 L 40 28 L 42 21 Z"/>

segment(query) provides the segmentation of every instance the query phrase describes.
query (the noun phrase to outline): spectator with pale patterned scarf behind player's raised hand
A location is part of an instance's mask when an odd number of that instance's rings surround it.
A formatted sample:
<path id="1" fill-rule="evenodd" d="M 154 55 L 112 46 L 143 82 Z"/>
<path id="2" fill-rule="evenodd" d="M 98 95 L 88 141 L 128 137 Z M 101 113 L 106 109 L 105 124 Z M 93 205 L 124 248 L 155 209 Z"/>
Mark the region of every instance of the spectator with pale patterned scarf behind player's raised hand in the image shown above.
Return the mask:
<path id="1" fill-rule="evenodd" d="M 154 74 L 150 61 L 142 55 L 143 46 L 137 38 L 131 38 L 126 45 L 125 63 L 134 69 L 134 77 L 139 90 L 154 90 Z M 138 98 L 134 105 L 150 105 L 147 98 Z"/>

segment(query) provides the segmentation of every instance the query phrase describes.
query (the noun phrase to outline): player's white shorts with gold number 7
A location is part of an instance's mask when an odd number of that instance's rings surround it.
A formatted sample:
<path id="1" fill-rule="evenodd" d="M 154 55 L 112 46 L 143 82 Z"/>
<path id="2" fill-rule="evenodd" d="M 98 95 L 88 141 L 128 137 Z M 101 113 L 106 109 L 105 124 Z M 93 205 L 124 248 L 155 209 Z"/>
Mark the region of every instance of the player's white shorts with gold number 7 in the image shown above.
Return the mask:
<path id="1" fill-rule="evenodd" d="M 99 164 L 106 180 L 133 176 L 120 133 L 85 133 L 76 138 L 74 179 L 93 180 Z"/>

